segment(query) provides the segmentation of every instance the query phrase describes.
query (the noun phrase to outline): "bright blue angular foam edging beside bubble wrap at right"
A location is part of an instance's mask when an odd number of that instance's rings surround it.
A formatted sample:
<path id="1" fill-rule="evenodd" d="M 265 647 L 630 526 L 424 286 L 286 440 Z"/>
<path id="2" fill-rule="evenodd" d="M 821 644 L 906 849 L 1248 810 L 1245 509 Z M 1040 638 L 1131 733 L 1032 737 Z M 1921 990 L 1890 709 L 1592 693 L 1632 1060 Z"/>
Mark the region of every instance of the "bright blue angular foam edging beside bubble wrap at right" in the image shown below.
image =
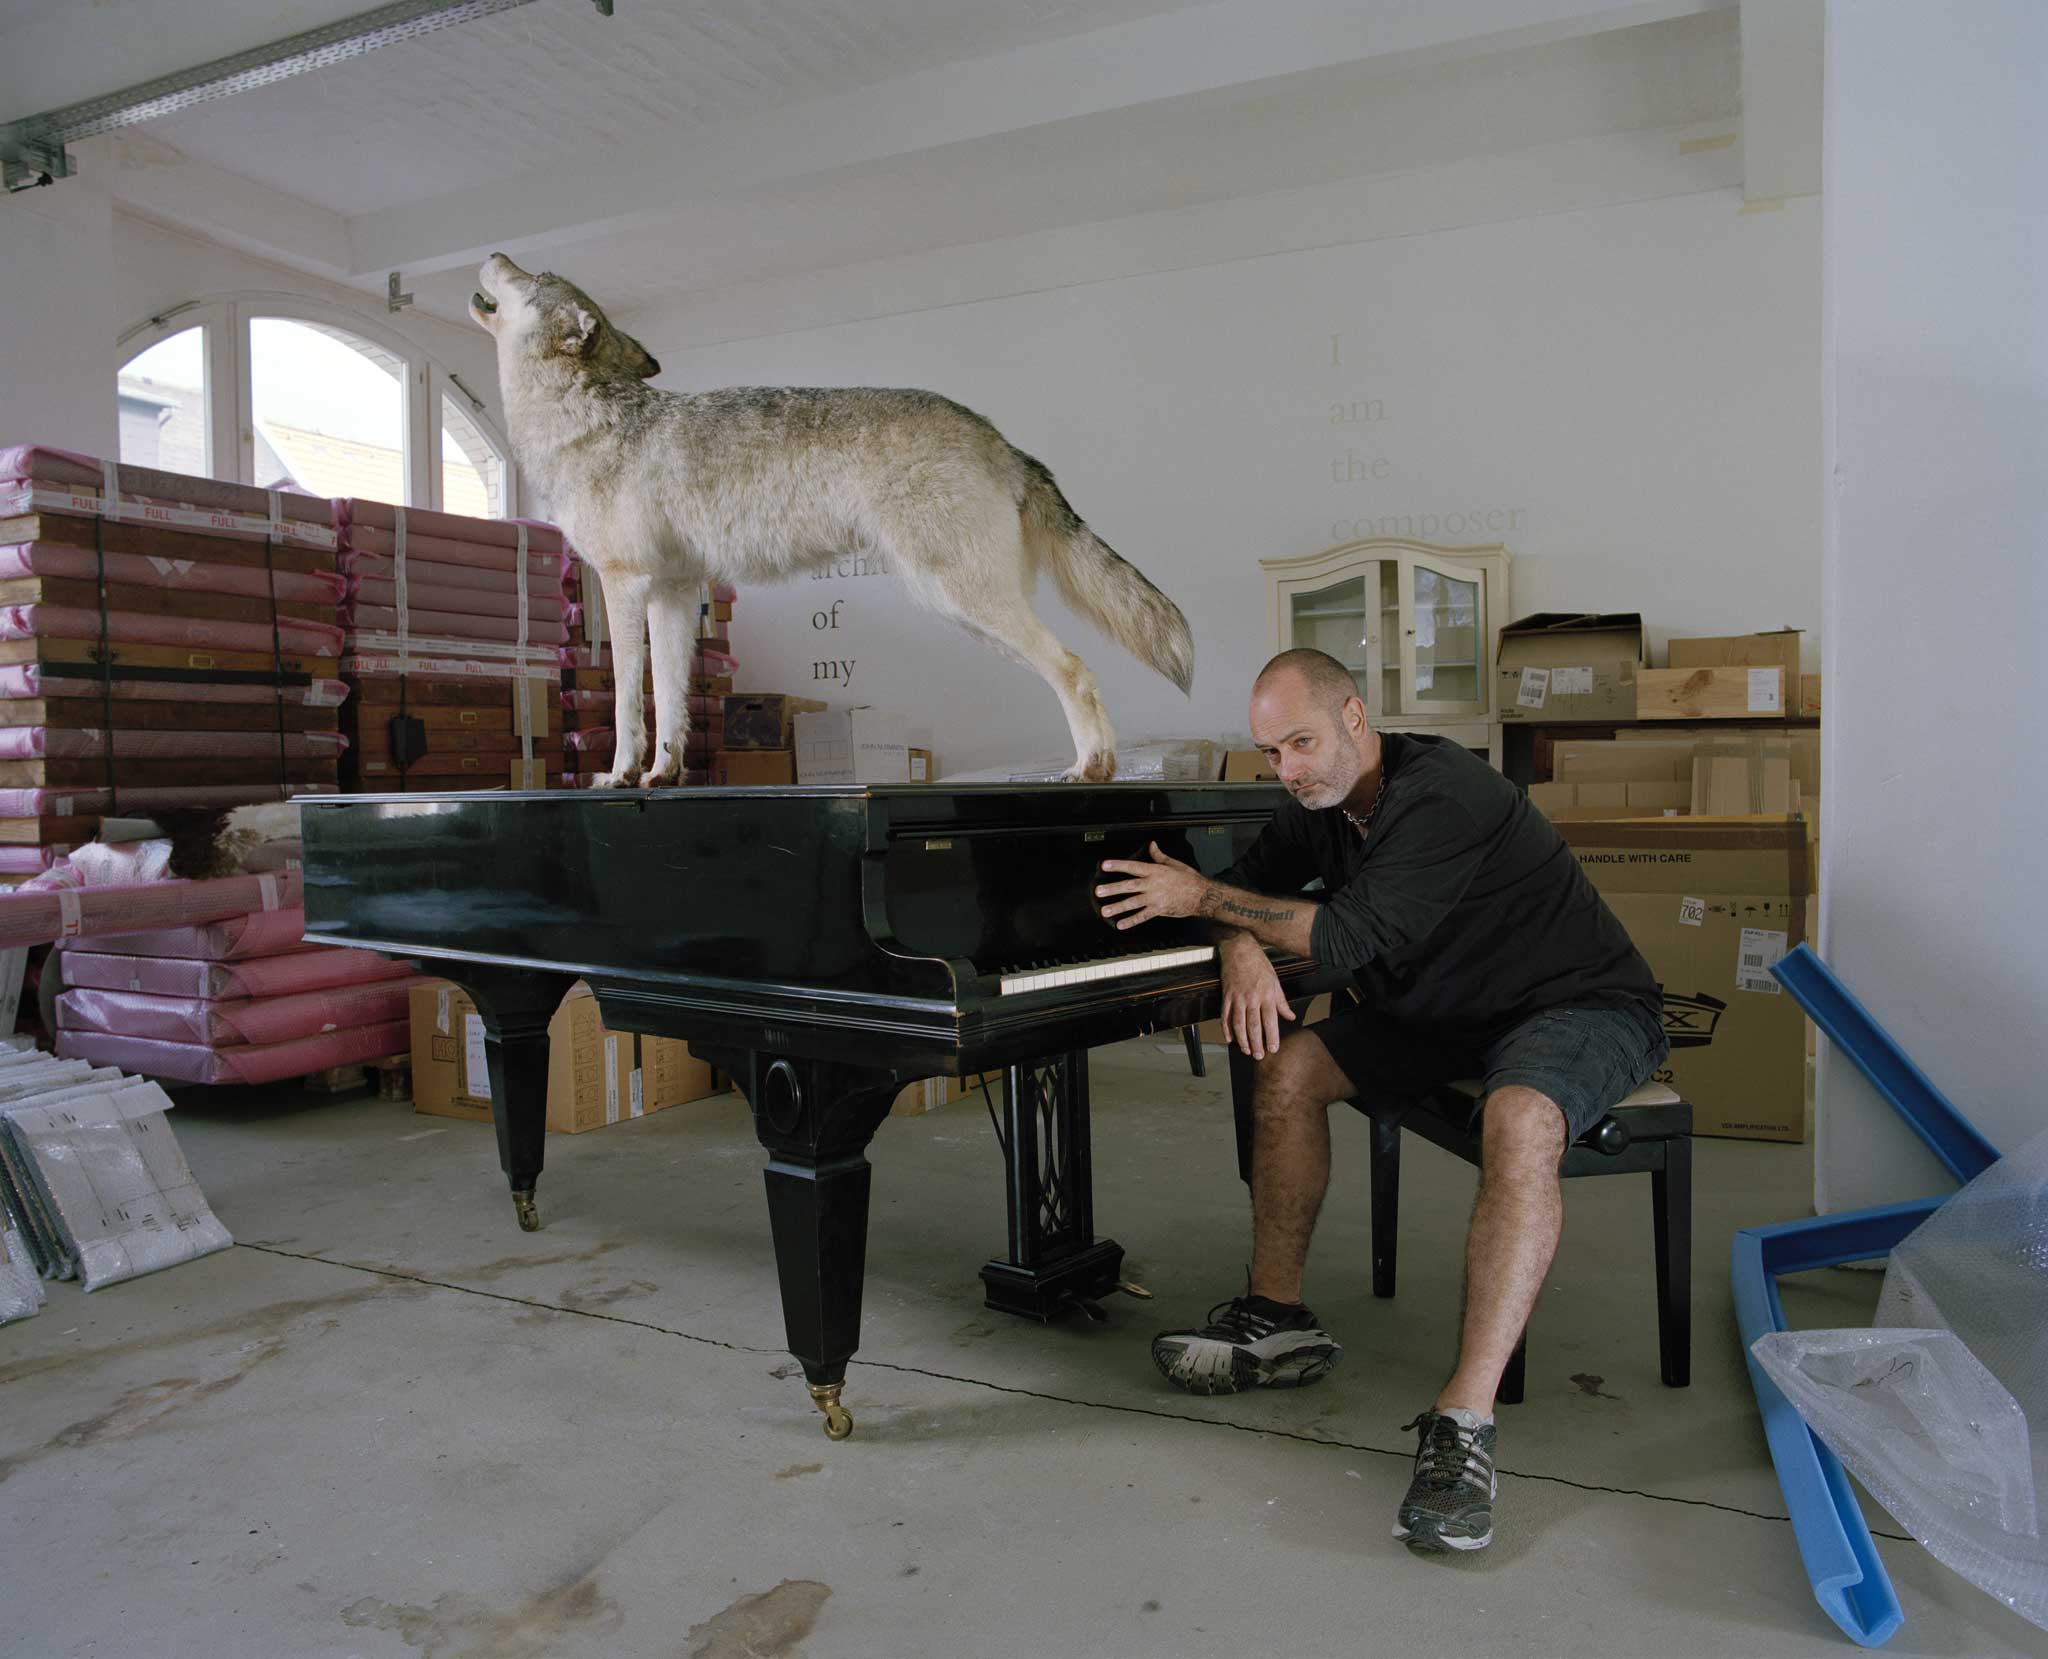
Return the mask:
<path id="1" fill-rule="evenodd" d="M 1948 1102 L 1927 1073 L 1913 1065 L 1905 1049 L 1810 948 L 1800 944 L 1780 959 L 1772 973 L 1958 1182 L 1970 1182 L 1997 1163 L 1997 1149 Z M 1757 1337 L 1786 1329 L 1778 1274 L 1839 1268 L 1843 1262 L 1888 1256 L 1946 1202 L 1948 1196 L 1915 1198 L 1905 1204 L 1784 1221 L 1776 1227 L 1747 1227 L 1735 1235 L 1729 1249 L 1743 1358 L 1749 1362 L 1749 1382 L 1757 1393 L 1763 1436 L 1778 1466 L 1778 1485 L 1792 1516 L 1792 1536 L 1798 1538 L 1806 1581 L 1821 1610 L 1862 1647 L 1882 1647 L 1905 1624 L 1898 1593 L 1870 1540 L 1870 1526 L 1849 1487 L 1847 1471 L 1806 1428 L 1806 1419 L 1763 1372 L 1751 1348 Z"/>

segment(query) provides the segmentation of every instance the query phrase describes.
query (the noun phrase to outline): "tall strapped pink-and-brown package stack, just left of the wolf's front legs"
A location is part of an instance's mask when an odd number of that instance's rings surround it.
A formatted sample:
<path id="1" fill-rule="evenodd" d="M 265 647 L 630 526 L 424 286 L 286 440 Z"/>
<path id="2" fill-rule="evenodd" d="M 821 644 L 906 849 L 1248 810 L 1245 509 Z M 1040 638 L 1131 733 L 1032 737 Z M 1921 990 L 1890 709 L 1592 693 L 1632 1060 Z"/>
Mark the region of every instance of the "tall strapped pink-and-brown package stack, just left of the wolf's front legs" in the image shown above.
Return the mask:
<path id="1" fill-rule="evenodd" d="M 553 524 L 334 502 L 352 791 L 545 789 L 578 606 Z"/>

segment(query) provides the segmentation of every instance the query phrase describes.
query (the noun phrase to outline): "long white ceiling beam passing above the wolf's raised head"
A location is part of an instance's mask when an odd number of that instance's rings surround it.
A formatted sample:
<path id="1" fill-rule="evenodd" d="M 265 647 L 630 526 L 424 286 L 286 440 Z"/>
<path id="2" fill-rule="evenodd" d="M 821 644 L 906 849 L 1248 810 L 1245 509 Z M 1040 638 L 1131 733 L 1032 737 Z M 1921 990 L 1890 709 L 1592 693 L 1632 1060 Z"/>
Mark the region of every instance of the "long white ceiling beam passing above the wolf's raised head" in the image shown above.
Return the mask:
<path id="1" fill-rule="evenodd" d="M 692 135 L 350 219 L 352 268 L 467 266 L 662 217 L 713 195 L 1165 98 L 1374 61 L 1389 70 L 1720 10 L 1733 0 L 1219 0 L 819 98 Z"/>

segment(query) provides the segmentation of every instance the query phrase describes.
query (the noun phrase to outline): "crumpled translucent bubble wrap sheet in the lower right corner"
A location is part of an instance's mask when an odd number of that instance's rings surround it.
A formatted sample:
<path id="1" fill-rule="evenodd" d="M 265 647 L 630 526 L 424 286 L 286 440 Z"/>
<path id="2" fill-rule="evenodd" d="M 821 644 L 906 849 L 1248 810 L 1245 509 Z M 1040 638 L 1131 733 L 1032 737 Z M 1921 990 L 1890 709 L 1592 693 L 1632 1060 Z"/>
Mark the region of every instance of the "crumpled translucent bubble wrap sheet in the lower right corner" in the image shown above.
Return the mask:
<path id="1" fill-rule="evenodd" d="M 2048 1133 L 1892 1251 L 1872 1329 L 1755 1356 L 1937 1561 L 2048 1630 Z"/>

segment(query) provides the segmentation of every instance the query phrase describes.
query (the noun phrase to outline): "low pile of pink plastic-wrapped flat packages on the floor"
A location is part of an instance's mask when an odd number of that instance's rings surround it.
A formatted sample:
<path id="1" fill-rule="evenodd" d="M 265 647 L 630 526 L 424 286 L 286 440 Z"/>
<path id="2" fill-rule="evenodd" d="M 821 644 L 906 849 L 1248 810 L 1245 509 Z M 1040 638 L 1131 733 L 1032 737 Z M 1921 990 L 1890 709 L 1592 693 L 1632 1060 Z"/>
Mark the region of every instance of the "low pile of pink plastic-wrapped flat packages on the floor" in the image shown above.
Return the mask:
<path id="1" fill-rule="evenodd" d="M 272 1083 L 408 1051 L 410 967 L 303 942 L 305 909 L 63 948 L 57 1055 L 182 1083 Z"/>

